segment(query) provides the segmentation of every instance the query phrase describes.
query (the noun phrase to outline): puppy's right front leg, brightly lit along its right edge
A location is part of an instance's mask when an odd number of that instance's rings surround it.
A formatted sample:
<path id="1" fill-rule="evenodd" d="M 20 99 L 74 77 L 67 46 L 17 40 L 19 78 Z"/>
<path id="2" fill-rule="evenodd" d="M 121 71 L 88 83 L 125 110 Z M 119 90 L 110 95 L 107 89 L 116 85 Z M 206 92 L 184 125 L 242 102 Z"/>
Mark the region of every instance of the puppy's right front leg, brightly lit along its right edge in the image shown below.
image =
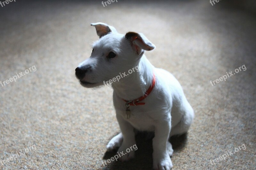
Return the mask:
<path id="1" fill-rule="evenodd" d="M 158 122 L 153 138 L 153 167 L 159 170 L 172 169 L 172 161 L 167 150 L 167 142 L 171 130 L 171 122 Z"/>

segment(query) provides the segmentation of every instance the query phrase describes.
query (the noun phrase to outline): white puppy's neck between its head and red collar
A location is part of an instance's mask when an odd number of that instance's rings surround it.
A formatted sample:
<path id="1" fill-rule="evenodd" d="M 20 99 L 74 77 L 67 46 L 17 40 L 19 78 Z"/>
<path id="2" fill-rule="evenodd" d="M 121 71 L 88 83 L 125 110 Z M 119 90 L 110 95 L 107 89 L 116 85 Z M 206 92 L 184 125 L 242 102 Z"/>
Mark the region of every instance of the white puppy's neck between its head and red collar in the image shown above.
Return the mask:
<path id="1" fill-rule="evenodd" d="M 129 76 L 121 78 L 112 84 L 117 96 L 124 100 L 135 100 L 143 96 L 148 90 L 153 79 L 154 66 L 143 55 L 138 63 L 139 71 L 132 72 Z"/>

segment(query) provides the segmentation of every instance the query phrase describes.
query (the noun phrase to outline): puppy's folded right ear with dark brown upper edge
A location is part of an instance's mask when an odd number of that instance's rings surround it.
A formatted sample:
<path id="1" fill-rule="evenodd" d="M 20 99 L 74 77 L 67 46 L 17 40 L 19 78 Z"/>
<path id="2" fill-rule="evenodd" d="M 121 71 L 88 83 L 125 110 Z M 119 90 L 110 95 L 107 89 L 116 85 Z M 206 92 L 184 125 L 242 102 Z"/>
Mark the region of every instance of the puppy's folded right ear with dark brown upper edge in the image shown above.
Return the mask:
<path id="1" fill-rule="evenodd" d="M 132 48 L 140 55 L 143 50 L 153 50 L 156 46 L 143 33 L 128 32 L 125 38 L 130 41 Z"/>

